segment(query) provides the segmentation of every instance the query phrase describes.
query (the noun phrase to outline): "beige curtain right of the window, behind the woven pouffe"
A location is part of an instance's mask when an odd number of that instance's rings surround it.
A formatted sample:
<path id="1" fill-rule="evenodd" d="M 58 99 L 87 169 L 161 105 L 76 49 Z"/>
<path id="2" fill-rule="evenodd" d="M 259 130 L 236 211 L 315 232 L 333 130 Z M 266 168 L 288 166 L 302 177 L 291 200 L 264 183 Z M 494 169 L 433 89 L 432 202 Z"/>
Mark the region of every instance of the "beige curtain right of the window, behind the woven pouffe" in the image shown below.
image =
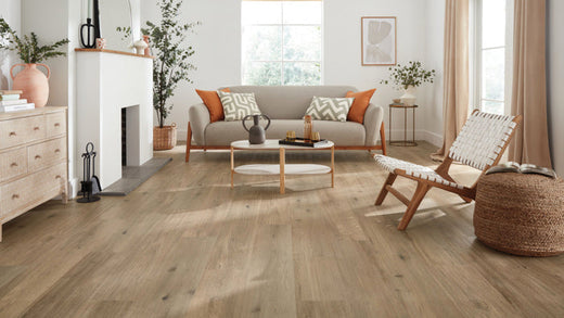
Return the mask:
<path id="1" fill-rule="evenodd" d="M 523 123 L 510 144 L 509 160 L 552 167 L 547 127 L 544 17 L 544 0 L 515 0 L 511 114 L 523 115 Z"/>

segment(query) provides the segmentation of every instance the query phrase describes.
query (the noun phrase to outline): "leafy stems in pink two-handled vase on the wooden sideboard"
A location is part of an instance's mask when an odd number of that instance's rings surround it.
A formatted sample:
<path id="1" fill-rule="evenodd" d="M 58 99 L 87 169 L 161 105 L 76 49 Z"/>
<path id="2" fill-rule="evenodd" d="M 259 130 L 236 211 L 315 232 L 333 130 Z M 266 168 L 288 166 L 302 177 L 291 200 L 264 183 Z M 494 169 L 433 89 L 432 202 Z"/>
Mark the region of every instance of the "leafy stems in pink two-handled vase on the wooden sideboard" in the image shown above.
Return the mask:
<path id="1" fill-rule="evenodd" d="M 29 103 L 35 103 L 36 107 L 42 107 L 49 99 L 49 76 L 51 69 L 41 62 L 55 56 L 65 56 L 65 52 L 57 49 L 68 43 L 68 39 L 56 41 L 50 46 L 39 46 L 37 35 L 31 33 L 20 38 L 10 27 L 4 18 L 0 17 L 0 49 L 16 51 L 24 64 L 15 64 L 10 68 L 10 76 L 14 80 L 12 89 L 22 90 L 22 99 L 27 99 Z M 13 71 L 16 66 L 24 66 L 24 69 L 14 76 Z M 37 66 L 47 69 L 47 76 Z"/>

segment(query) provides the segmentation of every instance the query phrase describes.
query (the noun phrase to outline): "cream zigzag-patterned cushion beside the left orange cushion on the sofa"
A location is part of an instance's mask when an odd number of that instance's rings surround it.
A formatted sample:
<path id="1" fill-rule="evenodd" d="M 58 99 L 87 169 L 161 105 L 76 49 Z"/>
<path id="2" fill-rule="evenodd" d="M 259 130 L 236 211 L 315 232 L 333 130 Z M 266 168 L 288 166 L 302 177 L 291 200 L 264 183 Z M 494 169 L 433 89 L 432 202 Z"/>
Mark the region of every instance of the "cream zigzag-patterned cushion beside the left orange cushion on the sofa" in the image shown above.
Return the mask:
<path id="1" fill-rule="evenodd" d="M 223 106 L 226 122 L 243 120 L 246 115 L 260 115 L 255 93 L 234 93 L 220 90 L 217 93 Z"/>

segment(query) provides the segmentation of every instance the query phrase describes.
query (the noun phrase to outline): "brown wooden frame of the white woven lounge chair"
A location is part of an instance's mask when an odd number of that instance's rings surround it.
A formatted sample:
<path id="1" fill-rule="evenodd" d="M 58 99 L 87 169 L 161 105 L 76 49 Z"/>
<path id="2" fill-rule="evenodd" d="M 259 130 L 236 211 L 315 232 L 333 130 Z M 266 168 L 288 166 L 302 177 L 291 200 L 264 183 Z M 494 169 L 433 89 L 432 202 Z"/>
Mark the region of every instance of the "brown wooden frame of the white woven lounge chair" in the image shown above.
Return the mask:
<path id="1" fill-rule="evenodd" d="M 473 114 L 475 112 L 477 112 L 477 110 L 475 110 L 473 112 Z M 482 174 L 485 174 L 486 170 L 489 169 L 491 166 L 495 166 L 495 165 L 499 164 L 499 161 L 501 160 L 501 156 L 505 152 L 505 149 L 508 148 L 509 143 L 513 139 L 513 136 L 515 135 L 515 131 L 517 130 L 517 126 L 521 124 L 521 120 L 522 120 L 522 116 L 521 115 L 517 115 L 517 116 L 515 116 L 513 118 L 512 122 L 516 124 L 515 128 L 513 128 L 513 130 L 511 131 L 511 135 L 504 141 L 504 143 L 503 143 L 499 154 L 493 160 L 493 163 L 490 164 L 490 165 L 486 165 L 485 168 L 482 170 Z M 446 179 L 446 180 L 448 180 L 450 182 L 457 183 L 454 181 L 454 179 L 449 175 L 449 169 L 450 169 L 450 166 L 451 166 L 451 164 L 453 162 L 453 160 L 450 157 L 450 155 L 451 154 L 449 152 L 449 155 L 435 169 L 435 173 L 437 175 L 439 175 L 440 177 L 443 177 L 444 179 Z M 411 198 L 411 200 L 409 200 L 403 194 L 401 194 L 397 189 L 392 187 L 392 185 L 394 183 L 394 181 L 396 180 L 396 178 L 398 176 L 401 176 L 401 177 L 405 177 L 405 178 L 408 178 L 408 179 L 411 179 L 411 180 L 414 180 L 414 181 L 418 182 L 418 187 L 416 187 L 415 192 L 414 192 L 413 196 Z M 382 190 L 380 191 L 380 194 L 377 195 L 377 199 L 376 199 L 374 205 L 381 205 L 384 202 L 384 199 L 386 198 L 388 192 L 394 194 L 394 196 L 396 196 L 399 201 L 401 201 L 405 205 L 407 205 L 407 209 L 403 213 L 403 217 L 401 218 L 401 220 L 400 220 L 400 222 L 398 225 L 398 230 L 403 231 L 403 230 L 406 230 L 406 228 L 408 227 L 409 222 L 411 221 L 411 218 L 415 214 L 419 205 L 421 204 L 421 202 L 425 198 L 425 194 L 433 187 L 439 188 L 439 189 L 443 189 L 443 190 L 446 190 L 446 191 L 449 191 L 449 192 L 452 192 L 452 193 L 456 193 L 456 194 L 460 195 L 460 198 L 462 200 L 464 200 L 464 202 L 470 203 L 470 202 L 472 202 L 473 200 L 476 199 L 476 186 L 477 186 L 477 180 L 470 188 L 469 187 L 462 187 L 462 189 L 459 189 L 459 188 L 454 188 L 454 187 L 449 187 L 447 185 L 443 185 L 440 182 L 436 182 L 436 181 L 427 180 L 427 179 L 424 179 L 424 178 L 415 177 L 415 176 L 412 176 L 412 175 L 408 174 L 403 169 L 397 168 L 397 169 L 394 169 L 393 173 L 389 173 L 386 181 L 384 182 L 384 186 L 382 187 Z"/>

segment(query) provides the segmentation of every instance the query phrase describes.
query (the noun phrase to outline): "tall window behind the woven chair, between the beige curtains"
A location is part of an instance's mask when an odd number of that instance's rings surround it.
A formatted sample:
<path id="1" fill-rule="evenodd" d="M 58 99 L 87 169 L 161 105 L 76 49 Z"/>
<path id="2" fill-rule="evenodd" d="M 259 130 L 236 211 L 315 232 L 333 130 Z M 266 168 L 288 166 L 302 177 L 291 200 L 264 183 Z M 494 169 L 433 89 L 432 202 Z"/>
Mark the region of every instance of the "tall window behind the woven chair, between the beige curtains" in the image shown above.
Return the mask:
<path id="1" fill-rule="evenodd" d="M 512 0 L 474 0 L 474 105 L 509 113 Z"/>

